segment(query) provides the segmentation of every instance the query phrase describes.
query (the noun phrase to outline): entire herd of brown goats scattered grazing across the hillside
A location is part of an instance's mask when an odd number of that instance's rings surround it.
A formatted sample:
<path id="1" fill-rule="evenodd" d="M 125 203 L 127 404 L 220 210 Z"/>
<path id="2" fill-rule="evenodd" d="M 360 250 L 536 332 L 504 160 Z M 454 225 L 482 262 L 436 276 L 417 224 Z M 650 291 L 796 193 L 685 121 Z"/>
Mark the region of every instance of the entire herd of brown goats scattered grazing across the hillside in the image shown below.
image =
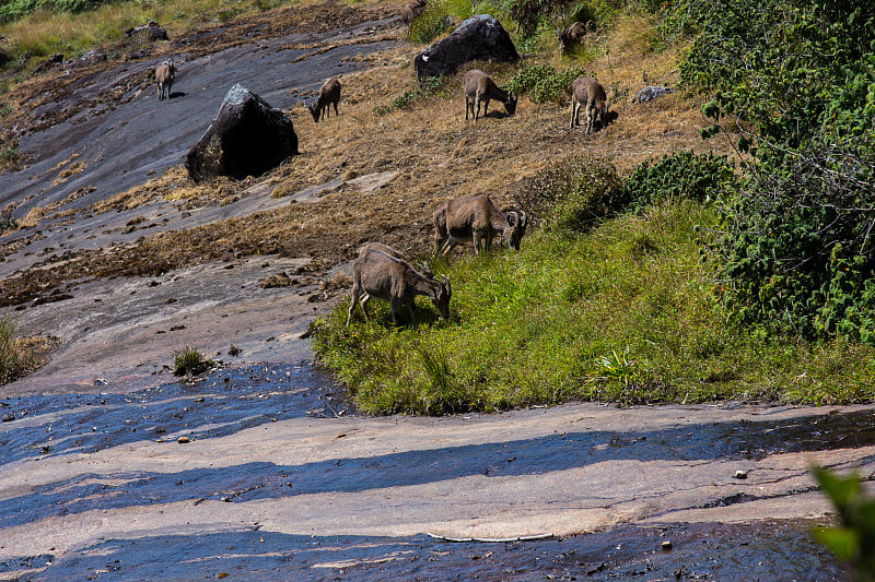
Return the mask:
<path id="1" fill-rule="evenodd" d="M 413 0 L 401 9 L 401 20 L 407 25 L 413 22 L 427 7 L 428 0 Z M 594 34 L 592 23 L 574 25 L 558 31 L 560 50 L 567 51 L 571 45 L 584 41 Z M 171 86 L 176 70 L 172 61 L 165 61 L 155 70 L 159 99 L 170 98 Z M 517 96 L 502 91 L 485 72 L 474 69 L 462 81 L 465 94 L 465 119 L 468 114 L 477 122 L 482 106 L 483 117 L 489 110 L 489 102 L 498 100 L 504 105 L 508 116 L 516 111 Z M 318 122 L 330 115 L 334 108 L 338 115 L 340 82 L 334 78 L 319 88 L 316 100 L 307 106 L 313 121 Z M 166 92 L 166 97 L 165 97 Z M 602 127 L 607 123 L 605 87 L 591 76 L 578 78 L 571 86 L 570 128 L 579 124 L 580 109 L 586 114 L 586 133 L 594 129 L 596 120 Z M 460 197 L 443 202 L 432 215 L 434 225 L 434 254 L 446 256 L 454 247 L 471 242 L 475 254 L 489 251 L 497 235 L 511 250 L 520 250 L 520 240 L 526 229 L 525 212 L 502 212 L 488 195 Z M 407 306 L 413 322 L 415 299 L 423 295 L 431 299 L 441 318 L 450 317 L 452 288 L 450 280 L 436 277 L 424 263 L 413 265 L 400 252 L 380 242 L 369 242 L 359 249 L 359 257 L 352 263 L 352 300 L 349 306 L 347 325 L 350 324 L 355 306 L 361 304 L 364 319 L 368 320 L 366 305 L 371 298 L 389 301 L 393 323 L 398 322 L 399 309 Z"/>

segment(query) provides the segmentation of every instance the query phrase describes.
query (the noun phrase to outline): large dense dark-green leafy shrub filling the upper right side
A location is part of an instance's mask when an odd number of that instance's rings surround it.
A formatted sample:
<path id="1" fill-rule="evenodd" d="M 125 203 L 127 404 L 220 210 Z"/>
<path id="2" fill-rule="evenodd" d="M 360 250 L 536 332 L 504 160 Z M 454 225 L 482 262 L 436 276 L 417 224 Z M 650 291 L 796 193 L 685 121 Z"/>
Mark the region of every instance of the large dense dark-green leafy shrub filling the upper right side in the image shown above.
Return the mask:
<path id="1" fill-rule="evenodd" d="M 738 132 L 749 179 L 711 247 L 736 321 L 875 343 L 875 4 L 676 2 L 681 64 L 713 92 L 705 136 Z"/>

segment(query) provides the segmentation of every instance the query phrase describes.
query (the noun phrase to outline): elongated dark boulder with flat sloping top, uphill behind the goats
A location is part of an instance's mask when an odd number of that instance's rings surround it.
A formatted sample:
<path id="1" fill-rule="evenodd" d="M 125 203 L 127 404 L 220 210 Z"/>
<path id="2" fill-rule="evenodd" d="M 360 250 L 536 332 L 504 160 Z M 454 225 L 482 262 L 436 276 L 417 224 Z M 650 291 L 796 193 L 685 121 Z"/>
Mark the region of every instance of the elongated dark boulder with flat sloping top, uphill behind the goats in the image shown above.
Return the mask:
<path id="1" fill-rule="evenodd" d="M 468 61 L 513 62 L 520 59 L 511 35 L 489 14 L 463 22 L 453 34 L 417 55 L 417 78 L 454 75 Z"/>

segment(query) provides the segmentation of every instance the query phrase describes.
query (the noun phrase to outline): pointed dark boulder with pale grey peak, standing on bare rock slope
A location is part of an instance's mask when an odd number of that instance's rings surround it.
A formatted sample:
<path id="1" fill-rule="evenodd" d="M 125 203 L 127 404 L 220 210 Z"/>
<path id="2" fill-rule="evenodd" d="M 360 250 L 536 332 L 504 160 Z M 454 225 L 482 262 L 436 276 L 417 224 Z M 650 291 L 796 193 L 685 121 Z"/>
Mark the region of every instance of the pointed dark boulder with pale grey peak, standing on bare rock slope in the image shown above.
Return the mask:
<path id="1" fill-rule="evenodd" d="M 260 176 L 298 154 L 292 120 L 249 90 L 234 85 L 219 116 L 188 152 L 185 167 L 196 182 L 215 176 Z"/>

